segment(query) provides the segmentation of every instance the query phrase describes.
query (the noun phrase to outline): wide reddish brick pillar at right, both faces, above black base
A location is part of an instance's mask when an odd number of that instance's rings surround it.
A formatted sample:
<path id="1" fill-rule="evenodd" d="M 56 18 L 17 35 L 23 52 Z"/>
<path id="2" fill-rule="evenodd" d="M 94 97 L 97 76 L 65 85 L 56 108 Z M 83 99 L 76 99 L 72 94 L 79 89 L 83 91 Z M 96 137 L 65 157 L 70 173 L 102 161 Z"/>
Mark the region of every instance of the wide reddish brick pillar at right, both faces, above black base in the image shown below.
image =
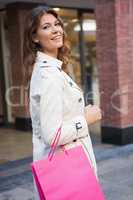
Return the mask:
<path id="1" fill-rule="evenodd" d="M 133 127 L 133 1 L 97 0 L 96 21 L 102 126 L 115 141 Z"/>

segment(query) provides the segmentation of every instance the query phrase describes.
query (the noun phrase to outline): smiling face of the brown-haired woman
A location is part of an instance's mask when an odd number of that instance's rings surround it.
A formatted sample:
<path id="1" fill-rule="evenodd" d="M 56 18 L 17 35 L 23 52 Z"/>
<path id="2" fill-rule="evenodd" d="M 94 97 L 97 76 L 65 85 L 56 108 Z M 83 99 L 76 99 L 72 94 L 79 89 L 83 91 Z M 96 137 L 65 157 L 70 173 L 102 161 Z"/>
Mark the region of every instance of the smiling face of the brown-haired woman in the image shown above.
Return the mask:
<path id="1" fill-rule="evenodd" d="M 52 14 L 44 14 L 36 31 L 35 42 L 39 43 L 43 52 L 57 51 L 63 46 L 63 28 L 59 20 Z"/>

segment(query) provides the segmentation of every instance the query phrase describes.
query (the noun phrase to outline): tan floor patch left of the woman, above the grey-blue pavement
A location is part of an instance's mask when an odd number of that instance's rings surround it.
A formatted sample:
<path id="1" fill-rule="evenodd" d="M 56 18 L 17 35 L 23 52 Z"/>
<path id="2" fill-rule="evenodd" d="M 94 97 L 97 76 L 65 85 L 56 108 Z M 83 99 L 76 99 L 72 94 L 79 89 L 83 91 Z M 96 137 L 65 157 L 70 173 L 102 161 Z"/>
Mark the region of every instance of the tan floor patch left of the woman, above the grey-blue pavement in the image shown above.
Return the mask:
<path id="1" fill-rule="evenodd" d="M 0 164 L 32 155 L 31 132 L 0 128 Z"/>

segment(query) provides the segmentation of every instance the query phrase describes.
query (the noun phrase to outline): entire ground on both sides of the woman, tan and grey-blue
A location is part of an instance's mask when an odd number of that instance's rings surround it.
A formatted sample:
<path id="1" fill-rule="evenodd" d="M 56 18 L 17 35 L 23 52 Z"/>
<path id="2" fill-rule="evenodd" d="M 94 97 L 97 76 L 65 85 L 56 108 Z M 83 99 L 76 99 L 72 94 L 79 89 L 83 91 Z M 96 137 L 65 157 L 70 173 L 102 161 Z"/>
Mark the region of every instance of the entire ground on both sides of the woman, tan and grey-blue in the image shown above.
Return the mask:
<path id="1" fill-rule="evenodd" d="M 0 138 L 0 200 L 33 200 L 31 133 L 0 129 Z M 92 141 L 106 199 L 133 200 L 133 144 L 103 145 L 94 135 Z"/>

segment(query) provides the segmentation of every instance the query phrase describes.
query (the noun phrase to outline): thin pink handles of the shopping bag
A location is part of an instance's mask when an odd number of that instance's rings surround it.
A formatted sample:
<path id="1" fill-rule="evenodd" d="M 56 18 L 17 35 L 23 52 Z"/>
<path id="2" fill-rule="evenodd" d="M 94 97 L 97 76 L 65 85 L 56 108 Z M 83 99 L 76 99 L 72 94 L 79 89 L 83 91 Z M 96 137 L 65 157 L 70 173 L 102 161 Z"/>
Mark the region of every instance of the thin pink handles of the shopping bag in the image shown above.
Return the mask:
<path id="1" fill-rule="evenodd" d="M 48 159 L 49 159 L 49 161 L 52 160 L 52 158 L 53 158 L 53 156 L 54 156 L 54 153 L 55 153 L 55 150 L 56 150 L 56 148 L 57 148 L 57 145 L 58 145 L 58 143 L 59 143 L 59 139 L 60 139 L 60 135 L 61 135 L 61 127 L 62 127 L 62 126 L 60 126 L 60 127 L 58 128 L 58 130 L 57 130 L 57 132 L 56 132 L 56 135 L 55 135 L 55 138 L 54 138 L 54 140 L 53 140 L 53 142 L 52 142 L 52 144 L 51 144 L 50 151 L 49 151 L 49 154 L 48 154 Z M 62 150 L 65 152 L 65 154 L 68 154 L 68 152 L 66 151 L 64 145 L 61 145 L 61 148 L 62 148 Z"/>

